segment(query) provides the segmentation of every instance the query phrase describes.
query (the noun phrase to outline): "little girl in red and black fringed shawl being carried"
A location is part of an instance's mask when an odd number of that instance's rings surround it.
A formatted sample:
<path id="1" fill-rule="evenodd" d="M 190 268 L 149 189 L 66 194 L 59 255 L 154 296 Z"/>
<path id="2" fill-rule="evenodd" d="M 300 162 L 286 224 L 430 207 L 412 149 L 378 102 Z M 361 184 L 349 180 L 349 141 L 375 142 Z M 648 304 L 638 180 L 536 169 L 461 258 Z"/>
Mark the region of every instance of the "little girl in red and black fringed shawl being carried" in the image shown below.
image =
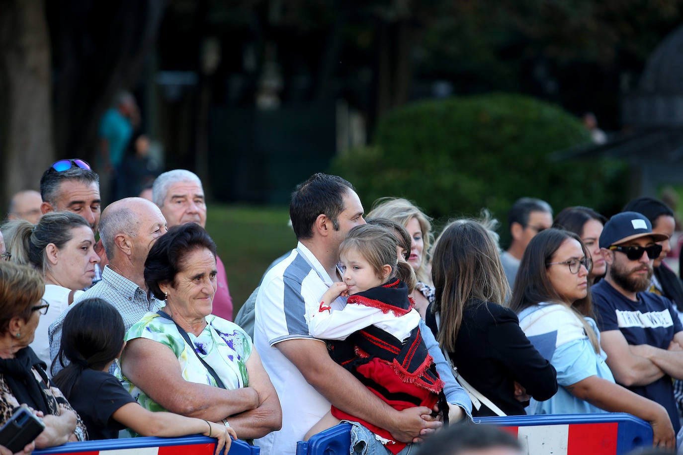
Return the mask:
<path id="1" fill-rule="evenodd" d="M 331 357 L 394 409 L 440 403 L 443 381 L 422 339 L 420 315 L 408 293 L 415 287 L 415 272 L 398 261 L 397 240 L 388 229 L 372 224 L 357 226 L 339 247 L 344 282 L 334 283 L 321 298 L 320 309 L 309 324 L 310 334 L 331 343 Z M 329 303 L 349 296 L 343 310 L 331 310 Z M 462 415 L 462 410 L 454 407 Z M 454 409 L 451 408 L 451 409 Z M 458 420 L 459 416 L 454 420 Z M 306 438 L 341 420 L 359 422 L 372 430 L 387 450 L 398 454 L 405 443 L 358 417 L 332 407 Z"/>

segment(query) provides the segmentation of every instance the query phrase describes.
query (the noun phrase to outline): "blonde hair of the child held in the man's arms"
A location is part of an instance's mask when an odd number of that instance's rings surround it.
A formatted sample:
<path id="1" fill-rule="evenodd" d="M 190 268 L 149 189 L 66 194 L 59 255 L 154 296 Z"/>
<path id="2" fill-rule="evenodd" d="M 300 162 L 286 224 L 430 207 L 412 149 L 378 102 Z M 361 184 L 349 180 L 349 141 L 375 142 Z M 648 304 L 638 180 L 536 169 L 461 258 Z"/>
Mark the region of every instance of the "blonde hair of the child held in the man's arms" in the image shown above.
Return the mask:
<path id="1" fill-rule="evenodd" d="M 339 254 L 344 254 L 351 248 L 357 250 L 370 263 L 378 278 L 384 279 L 382 267 L 391 265 L 391 273 L 387 277 L 398 278 L 408 286 L 412 293 L 417 284 L 415 271 L 407 262 L 399 261 L 396 257 L 398 241 L 395 234 L 378 224 L 363 224 L 351 229 L 339 246 Z"/>

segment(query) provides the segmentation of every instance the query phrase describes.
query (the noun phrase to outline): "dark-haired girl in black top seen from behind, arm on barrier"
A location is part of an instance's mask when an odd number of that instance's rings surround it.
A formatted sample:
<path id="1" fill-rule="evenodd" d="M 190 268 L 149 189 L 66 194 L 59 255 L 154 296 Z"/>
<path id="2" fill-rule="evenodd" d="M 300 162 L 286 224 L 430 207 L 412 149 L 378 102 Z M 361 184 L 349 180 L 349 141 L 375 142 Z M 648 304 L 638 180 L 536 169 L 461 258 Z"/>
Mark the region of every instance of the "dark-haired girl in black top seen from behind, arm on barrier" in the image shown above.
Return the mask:
<path id="1" fill-rule="evenodd" d="M 103 299 L 84 299 L 68 312 L 57 358 L 71 363 L 54 378 L 57 387 L 81 415 L 90 439 L 116 439 L 128 427 L 143 436 L 197 435 L 217 438 L 216 455 L 229 450 L 235 430 L 222 423 L 152 412 L 141 407 L 109 366 L 124 349 L 124 321 Z"/>

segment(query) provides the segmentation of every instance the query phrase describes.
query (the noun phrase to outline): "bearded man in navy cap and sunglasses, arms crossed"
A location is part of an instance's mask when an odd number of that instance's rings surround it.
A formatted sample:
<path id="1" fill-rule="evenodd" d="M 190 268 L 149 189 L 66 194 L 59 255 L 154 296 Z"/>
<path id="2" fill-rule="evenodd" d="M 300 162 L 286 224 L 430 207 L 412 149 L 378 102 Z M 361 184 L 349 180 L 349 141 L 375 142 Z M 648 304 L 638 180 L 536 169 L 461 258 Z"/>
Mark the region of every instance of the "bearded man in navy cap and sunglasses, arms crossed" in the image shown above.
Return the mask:
<path id="1" fill-rule="evenodd" d="M 678 432 L 671 378 L 683 379 L 683 325 L 671 300 L 645 292 L 662 250 L 655 242 L 667 238 L 635 211 L 613 216 L 600 235 L 607 274 L 591 296 L 614 379 L 665 407 Z"/>

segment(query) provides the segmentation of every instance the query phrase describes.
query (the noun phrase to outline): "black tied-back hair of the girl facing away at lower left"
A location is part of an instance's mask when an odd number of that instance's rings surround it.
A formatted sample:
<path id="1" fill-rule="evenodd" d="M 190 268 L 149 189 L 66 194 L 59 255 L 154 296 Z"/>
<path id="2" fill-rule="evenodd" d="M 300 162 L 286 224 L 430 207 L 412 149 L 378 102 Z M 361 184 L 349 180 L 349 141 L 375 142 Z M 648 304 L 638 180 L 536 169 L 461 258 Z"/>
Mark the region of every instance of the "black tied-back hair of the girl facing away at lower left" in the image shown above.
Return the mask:
<path id="1" fill-rule="evenodd" d="M 54 381 L 68 400 L 83 368 L 102 370 L 120 353 L 126 327 L 121 314 L 104 299 L 93 297 L 75 304 L 64 317 L 57 358 L 64 368 Z"/>

